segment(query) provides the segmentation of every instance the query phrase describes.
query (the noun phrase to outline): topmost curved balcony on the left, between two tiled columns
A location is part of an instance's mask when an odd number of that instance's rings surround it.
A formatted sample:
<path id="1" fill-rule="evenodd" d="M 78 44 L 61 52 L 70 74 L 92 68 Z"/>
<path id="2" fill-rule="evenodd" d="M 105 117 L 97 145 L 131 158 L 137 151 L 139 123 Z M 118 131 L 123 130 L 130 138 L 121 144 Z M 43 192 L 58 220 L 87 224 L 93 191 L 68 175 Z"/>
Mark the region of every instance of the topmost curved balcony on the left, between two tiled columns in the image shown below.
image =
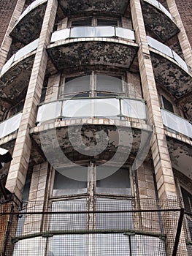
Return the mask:
<path id="1" fill-rule="evenodd" d="M 39 37 L 47 0 L 33 1 L 20 15 L 10 35 L 25 45 Z"/>

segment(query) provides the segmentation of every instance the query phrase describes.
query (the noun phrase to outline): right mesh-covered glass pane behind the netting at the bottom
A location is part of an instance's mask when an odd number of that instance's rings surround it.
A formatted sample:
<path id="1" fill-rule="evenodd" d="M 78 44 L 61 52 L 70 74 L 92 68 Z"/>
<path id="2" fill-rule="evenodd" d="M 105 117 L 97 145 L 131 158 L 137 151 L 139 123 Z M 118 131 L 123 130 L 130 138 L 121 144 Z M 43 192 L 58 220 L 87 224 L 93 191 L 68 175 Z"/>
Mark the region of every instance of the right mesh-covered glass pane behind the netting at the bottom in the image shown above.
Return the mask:
<path id="1" fill-rule="evenodd" d="M 131 200 L 96 200 L 96 211 L 130 211 L 132 208 Z M 112 212 L 96 214 L 96 229 L 133 229 L 134 223 L 131 212 Z"/>

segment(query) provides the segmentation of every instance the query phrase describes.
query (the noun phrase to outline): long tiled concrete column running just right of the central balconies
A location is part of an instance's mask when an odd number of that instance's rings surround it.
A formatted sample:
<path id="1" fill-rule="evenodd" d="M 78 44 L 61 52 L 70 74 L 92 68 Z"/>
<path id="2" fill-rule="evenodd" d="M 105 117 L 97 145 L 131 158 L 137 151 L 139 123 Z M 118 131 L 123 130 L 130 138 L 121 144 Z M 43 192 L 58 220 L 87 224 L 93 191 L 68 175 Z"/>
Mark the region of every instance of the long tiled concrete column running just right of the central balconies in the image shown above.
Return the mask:
<path id="1" fill-rule="evenodd" d="M 139 44 L 138 60 L 142 89 L 144 99 L 147 101 L 148 116 L 150 122 L 153 124 L 151 151 L 153 155 L 158 194 L 160 199 L 164 199 L 167 195 L 176 196 L 176 188 L 139 0 L 131 0 L 131 13 L 136 42 Z"/>

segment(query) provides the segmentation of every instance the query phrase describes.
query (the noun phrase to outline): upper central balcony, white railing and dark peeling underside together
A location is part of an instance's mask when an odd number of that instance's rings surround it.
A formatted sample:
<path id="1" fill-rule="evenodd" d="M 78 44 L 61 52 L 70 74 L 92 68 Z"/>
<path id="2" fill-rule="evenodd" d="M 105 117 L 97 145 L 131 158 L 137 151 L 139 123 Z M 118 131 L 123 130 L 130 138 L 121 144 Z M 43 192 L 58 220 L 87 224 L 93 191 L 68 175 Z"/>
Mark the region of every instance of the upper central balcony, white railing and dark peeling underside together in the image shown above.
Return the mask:
<path id="1" fill-rule="evenodd" d="M 94 64 L 129 68 L 137 48 L 134 31 L 98 26 L 55 31 L 47 51 L 58 70 Z"/>

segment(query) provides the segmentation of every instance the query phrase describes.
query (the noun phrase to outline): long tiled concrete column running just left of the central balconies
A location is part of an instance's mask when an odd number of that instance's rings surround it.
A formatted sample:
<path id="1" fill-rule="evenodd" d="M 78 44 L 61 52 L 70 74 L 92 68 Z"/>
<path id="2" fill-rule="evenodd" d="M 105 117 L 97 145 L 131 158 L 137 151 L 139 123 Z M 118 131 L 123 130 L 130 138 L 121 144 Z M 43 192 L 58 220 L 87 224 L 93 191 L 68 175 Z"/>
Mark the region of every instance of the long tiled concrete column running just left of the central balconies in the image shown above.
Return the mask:
<path id="1" fill-rule="evenodd" d="M 18 129 L 18 136 L 12 154 L 12 163 L 9 167 L 6 187 L 21 199 L 21 192 L 26 181 L 28 162 L 31 154 L 31 139 L 29 129 L 35 126 L 37 117 L 37 105 L 41 97 L 45 69 L 47 66 L 46 46 L 50 42 L 53 31 L 57 0 L 48 0 L 45 17 L 42 23 L 42 31 L 39 37 L 39 45 L 34 59 L 31 78 L 28 84 L 23 115 Z"/>

